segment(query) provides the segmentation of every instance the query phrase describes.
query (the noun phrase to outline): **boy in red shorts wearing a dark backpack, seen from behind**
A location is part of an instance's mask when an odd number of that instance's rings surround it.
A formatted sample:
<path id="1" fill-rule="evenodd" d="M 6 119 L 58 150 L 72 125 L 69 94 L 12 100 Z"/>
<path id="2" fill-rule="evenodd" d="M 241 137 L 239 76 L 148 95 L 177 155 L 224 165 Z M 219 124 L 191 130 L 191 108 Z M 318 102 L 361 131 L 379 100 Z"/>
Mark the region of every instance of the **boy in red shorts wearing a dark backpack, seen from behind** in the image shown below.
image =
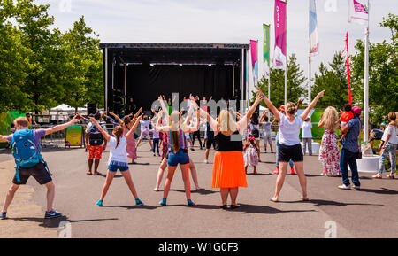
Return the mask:
<path id="1" fill-rule="evenodd" d="M 101 120 L 101 114 L 96 112 L 94 119 L 97 121 Z M 103 129 L 106 128 L 102 125 Z M 103 155 L 103 151 L 106 148 L 107 141 L 103 139 L 103 135 L 96 128 L 96 126 L 89 122 L 86 128 L 86 149 L 88 149 L 88 175 L 92 175 L 91 169 L 94 162 L 94 175 L 98 175 L 97 172 L 100 159 Z"/>

